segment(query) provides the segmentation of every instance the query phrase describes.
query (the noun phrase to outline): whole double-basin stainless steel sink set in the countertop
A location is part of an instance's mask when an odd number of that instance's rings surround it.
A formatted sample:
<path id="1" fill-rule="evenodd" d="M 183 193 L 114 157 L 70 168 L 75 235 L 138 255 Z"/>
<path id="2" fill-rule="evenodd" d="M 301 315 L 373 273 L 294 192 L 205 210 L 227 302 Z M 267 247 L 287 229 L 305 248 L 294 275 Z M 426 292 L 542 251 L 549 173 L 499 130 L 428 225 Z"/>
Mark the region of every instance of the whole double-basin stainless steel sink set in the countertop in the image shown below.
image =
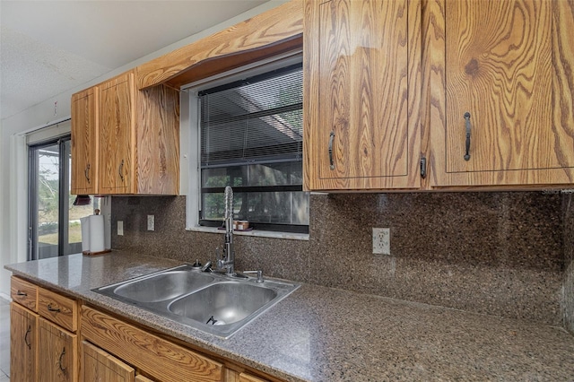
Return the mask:
<path id="1" fill-rule="evenodd" d="M 204 273 L 180 265 L 92 291 L 229 338 L 300 285 Z"/>

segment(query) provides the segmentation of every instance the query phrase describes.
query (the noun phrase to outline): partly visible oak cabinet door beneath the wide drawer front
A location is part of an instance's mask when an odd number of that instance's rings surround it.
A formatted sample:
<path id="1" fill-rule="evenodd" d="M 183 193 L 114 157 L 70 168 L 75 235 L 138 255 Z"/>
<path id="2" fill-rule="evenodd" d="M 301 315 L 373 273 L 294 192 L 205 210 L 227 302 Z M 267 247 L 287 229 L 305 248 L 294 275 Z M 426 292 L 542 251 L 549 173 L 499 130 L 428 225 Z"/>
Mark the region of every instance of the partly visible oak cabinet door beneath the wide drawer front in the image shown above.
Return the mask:
<path id="1" fill-rule="evenodd" d="M 100 348 L 82 342 L 83 382 L 134 382 L 135 369 Z"/>

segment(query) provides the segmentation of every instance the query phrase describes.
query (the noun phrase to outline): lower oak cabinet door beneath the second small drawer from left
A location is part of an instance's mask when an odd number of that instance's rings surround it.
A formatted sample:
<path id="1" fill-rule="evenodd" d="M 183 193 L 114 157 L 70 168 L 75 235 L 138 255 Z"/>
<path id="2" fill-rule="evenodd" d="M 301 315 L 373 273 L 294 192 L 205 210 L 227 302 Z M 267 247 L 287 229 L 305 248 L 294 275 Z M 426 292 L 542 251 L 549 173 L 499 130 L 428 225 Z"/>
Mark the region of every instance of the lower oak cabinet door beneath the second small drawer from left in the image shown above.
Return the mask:
<path id="1" fill-rule="evenodd" d="M 77 381 L 77 336 L 40 317 L 38 338 L 39 381 Z"/>

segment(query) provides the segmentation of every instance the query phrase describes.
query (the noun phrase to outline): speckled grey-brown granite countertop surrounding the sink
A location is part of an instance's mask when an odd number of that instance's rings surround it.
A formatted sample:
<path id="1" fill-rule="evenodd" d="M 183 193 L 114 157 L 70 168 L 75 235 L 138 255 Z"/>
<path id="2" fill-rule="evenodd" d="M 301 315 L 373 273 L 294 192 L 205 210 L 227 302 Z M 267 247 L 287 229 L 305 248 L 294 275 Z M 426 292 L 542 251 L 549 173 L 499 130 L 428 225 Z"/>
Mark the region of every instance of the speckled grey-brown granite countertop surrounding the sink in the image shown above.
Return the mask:
<path id="1" fill-rule="evenodd" d="M 114 251 L 5 268 L 288 381 L 574 379 L 560 327 L 303 284 L 223 340 L 91 291 L 176 265 Z"/>

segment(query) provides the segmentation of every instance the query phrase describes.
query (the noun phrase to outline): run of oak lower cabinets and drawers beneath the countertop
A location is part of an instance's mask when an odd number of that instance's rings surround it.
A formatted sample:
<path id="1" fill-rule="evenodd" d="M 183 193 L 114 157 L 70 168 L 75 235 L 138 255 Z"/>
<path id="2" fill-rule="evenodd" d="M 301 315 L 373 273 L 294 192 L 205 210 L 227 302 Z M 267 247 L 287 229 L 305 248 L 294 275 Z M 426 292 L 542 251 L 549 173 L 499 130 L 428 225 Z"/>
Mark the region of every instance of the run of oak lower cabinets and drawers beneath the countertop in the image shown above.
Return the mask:
<path id="1" fill-rule="evenodd" d="M 191 350 L 57 291 L 18 277 L 12 287 L 12 382 L 268 381 L 257 370 Z"/>

